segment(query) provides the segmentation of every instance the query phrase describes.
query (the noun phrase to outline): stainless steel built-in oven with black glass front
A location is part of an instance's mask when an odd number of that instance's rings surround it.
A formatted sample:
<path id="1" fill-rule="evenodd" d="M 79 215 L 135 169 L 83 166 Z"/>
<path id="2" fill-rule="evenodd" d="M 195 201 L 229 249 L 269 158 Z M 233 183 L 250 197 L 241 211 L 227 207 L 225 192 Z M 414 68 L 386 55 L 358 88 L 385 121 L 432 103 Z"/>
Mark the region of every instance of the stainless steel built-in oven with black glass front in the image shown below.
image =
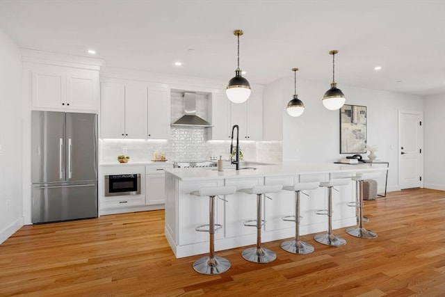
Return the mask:
<path id="1" fill-rule="evenodd" d="M 140 173 L 105 175 L 105 196 L 140 195 Z"/>

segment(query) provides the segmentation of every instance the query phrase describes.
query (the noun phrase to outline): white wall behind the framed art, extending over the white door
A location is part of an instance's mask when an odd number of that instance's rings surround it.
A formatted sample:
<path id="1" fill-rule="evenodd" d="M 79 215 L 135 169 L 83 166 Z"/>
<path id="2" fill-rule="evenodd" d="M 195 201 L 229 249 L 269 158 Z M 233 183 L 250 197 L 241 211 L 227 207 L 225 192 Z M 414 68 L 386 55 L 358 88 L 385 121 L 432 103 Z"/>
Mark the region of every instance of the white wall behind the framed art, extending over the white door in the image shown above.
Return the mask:
<path id="1" fill-rule="evenodd" d="M 321 102 L 330 83 L 299 79 L 297 92 L 305 104 L 305 112 L 298 118 L 292 118 L 286 113 L 286 104 L 292 99 L 293 77 L 280 80 L 282 83 L 275 81 L 272 88 L 266 86 L 264 99 L 265 102 L 275 101 L 282 107 L 281 112 L 269 117 L 276 121 L 282 118 L 283 161 L 334 162 L 348 156 L 339 153 L 339 111 L 328 111 Z M 277 90 L 279 85 L 284 91 Z M 355 88 L 341 83 L 338 87 L 346 95 L 346 104 L 367 107 L 368 144 L 378 146 L 377 159 L 389 161 L 388 191 L 397 191 L 400 189 L 397 174 L 398 110 L 423 111 L 423 99 L 416 95 Z"/>

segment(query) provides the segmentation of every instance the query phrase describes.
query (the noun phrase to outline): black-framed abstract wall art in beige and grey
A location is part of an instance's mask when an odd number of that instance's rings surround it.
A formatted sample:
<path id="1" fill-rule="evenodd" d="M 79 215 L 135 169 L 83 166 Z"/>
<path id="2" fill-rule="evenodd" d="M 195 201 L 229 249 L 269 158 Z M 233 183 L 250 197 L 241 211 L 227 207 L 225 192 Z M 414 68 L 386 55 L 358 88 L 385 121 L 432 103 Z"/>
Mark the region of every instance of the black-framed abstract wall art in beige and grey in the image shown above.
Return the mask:
<path id="1" fill-rule="evenodd" d="M 366 153 L 366 106 L 345 104 L 340 109 L 340 154 Z"/>

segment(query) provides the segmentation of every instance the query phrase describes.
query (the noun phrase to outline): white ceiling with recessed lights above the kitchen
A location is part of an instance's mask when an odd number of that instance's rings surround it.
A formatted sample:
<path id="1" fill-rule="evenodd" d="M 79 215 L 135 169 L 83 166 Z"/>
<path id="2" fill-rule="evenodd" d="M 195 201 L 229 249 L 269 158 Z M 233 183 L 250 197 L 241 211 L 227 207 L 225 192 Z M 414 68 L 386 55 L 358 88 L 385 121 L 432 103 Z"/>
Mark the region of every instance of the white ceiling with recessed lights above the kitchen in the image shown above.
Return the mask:
<path id="1" fill-rule="evenodd" d="M 19 47 L 107 67 L 250 83 L 291 77 L 414 95 L 445 92 L 444 0 L 0 0 Z M 181 61 L 178 67 L 174 63 Z M 381 70 L 374 70 L 380 66 Z"/>

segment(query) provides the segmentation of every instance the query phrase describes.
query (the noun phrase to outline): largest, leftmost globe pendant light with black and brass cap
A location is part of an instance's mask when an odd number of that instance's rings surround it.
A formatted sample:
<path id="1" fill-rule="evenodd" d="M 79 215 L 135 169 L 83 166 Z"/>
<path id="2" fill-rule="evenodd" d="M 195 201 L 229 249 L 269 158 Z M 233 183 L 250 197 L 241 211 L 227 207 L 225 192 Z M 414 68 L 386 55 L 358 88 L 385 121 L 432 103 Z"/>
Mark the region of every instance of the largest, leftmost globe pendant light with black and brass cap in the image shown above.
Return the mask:
<path id="1" fill-rule="evenodd" d="M 238 37 L 238 67 L 235 70 L 235 77 L 229 80 L 225 93 L 230 101 L 234 103 L 243 103 L 250 96 L 250 83 L 244 77 L 241 77 L 239 69 L 239 36 L 243 35 L 243 30 L 235 30 L 234 35 Z"/>

